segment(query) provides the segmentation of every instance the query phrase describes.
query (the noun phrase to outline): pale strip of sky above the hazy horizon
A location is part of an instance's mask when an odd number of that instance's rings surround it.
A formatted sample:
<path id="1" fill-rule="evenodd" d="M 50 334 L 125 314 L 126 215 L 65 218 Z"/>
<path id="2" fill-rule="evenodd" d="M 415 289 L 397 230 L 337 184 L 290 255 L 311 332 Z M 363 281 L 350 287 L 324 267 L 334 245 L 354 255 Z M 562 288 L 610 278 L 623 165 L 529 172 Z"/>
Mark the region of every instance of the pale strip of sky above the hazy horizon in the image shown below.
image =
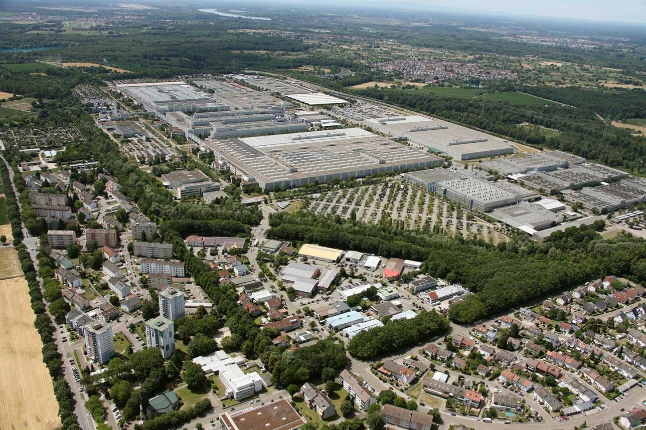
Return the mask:
<path id="1" fill-rule="evenodd" d="M 646 0 L 399 0 L 411 5 L 470 12 L 643 23 Z"/>

